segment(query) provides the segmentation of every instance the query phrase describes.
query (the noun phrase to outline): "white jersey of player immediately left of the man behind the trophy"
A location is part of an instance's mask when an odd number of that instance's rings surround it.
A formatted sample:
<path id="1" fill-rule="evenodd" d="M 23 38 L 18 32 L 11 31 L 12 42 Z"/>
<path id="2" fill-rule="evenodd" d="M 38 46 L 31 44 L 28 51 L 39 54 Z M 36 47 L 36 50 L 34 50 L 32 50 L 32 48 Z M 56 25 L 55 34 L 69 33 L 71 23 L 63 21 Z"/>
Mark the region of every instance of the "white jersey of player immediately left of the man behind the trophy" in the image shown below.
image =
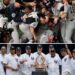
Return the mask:
<path id="1" fill-rule="evenodd" d="M 32 54 L 31 54 L 32 55 Z M 31 55 L 28 54 L 22 54 L 19 61 L 25 61 L 23 64 L 21 64 L 21 72 L 24 75 L 31 75 L 32 69 L 31 69 Z"/>

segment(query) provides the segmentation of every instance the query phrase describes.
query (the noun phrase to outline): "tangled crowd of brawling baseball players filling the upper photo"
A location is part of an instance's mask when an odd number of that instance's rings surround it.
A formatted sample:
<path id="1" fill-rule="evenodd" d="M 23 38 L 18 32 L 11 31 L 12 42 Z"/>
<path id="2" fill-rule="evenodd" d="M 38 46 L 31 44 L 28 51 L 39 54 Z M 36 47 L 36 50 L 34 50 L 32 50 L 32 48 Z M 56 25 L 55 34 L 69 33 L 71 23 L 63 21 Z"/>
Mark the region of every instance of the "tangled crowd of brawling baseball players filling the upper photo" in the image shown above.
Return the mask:
<path id="1" fill-rule="evenodd" d="M 0 2 L 1 43 L 72 43 L 74 28 L 74 0 Z"/>

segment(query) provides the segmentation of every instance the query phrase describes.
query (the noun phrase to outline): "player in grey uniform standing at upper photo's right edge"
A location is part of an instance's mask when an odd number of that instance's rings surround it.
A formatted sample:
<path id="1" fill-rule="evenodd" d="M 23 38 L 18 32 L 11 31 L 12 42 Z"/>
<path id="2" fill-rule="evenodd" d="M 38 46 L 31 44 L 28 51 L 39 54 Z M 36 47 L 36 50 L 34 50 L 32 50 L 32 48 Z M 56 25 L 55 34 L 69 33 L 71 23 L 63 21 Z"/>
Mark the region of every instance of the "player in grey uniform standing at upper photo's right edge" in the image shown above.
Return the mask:
<path id="1" fill-rule="evenodd" d="M 65 42 L 66 43 L 72 43 L 71 37 L 73 30 L 75 28 L 75 4 L 72 3 L 70 5 L 70 9 L 68 10 L 68 22 L 66 27 L 66 34 L 65 34 Z"/>

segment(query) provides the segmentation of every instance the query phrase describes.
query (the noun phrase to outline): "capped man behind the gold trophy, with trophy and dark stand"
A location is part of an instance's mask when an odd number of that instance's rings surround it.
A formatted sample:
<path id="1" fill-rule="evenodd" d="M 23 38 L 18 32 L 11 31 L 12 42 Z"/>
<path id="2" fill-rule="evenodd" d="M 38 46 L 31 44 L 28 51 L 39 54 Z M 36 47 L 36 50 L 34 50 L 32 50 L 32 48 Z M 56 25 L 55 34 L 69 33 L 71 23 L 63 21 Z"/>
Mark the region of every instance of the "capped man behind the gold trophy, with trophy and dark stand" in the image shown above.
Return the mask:
<path id="1" fill-rule="evenodd" d="M 33 54 L 34 63 L 32 66 L 35 68 L 35 71 L 32 72 L 32 75 L 47 75 L 46 58 L 45 54 L 42 53 L 42 50 L 42 45 L 38 45 L 37 52 Z"/>

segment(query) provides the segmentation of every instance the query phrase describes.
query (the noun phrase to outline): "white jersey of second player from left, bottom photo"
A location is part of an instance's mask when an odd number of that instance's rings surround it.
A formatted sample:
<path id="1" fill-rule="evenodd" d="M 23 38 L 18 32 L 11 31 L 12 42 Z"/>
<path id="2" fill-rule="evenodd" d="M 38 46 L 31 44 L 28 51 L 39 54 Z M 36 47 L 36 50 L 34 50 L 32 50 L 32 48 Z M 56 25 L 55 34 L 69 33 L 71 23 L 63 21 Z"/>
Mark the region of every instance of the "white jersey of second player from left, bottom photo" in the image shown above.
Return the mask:
<path id="1" fill-rule="evenodd" d="M 7 64 L 8 66 L 17 69 L 18 68 L 18 59 L 16 58 L 16 55 L 11 55 L 9 53 L 6 58 L 4 59 L 4 64 Z M 12 71 L 11 69 L 6 69 L 6 75 L 18 75 L 18 71 Z"/>

